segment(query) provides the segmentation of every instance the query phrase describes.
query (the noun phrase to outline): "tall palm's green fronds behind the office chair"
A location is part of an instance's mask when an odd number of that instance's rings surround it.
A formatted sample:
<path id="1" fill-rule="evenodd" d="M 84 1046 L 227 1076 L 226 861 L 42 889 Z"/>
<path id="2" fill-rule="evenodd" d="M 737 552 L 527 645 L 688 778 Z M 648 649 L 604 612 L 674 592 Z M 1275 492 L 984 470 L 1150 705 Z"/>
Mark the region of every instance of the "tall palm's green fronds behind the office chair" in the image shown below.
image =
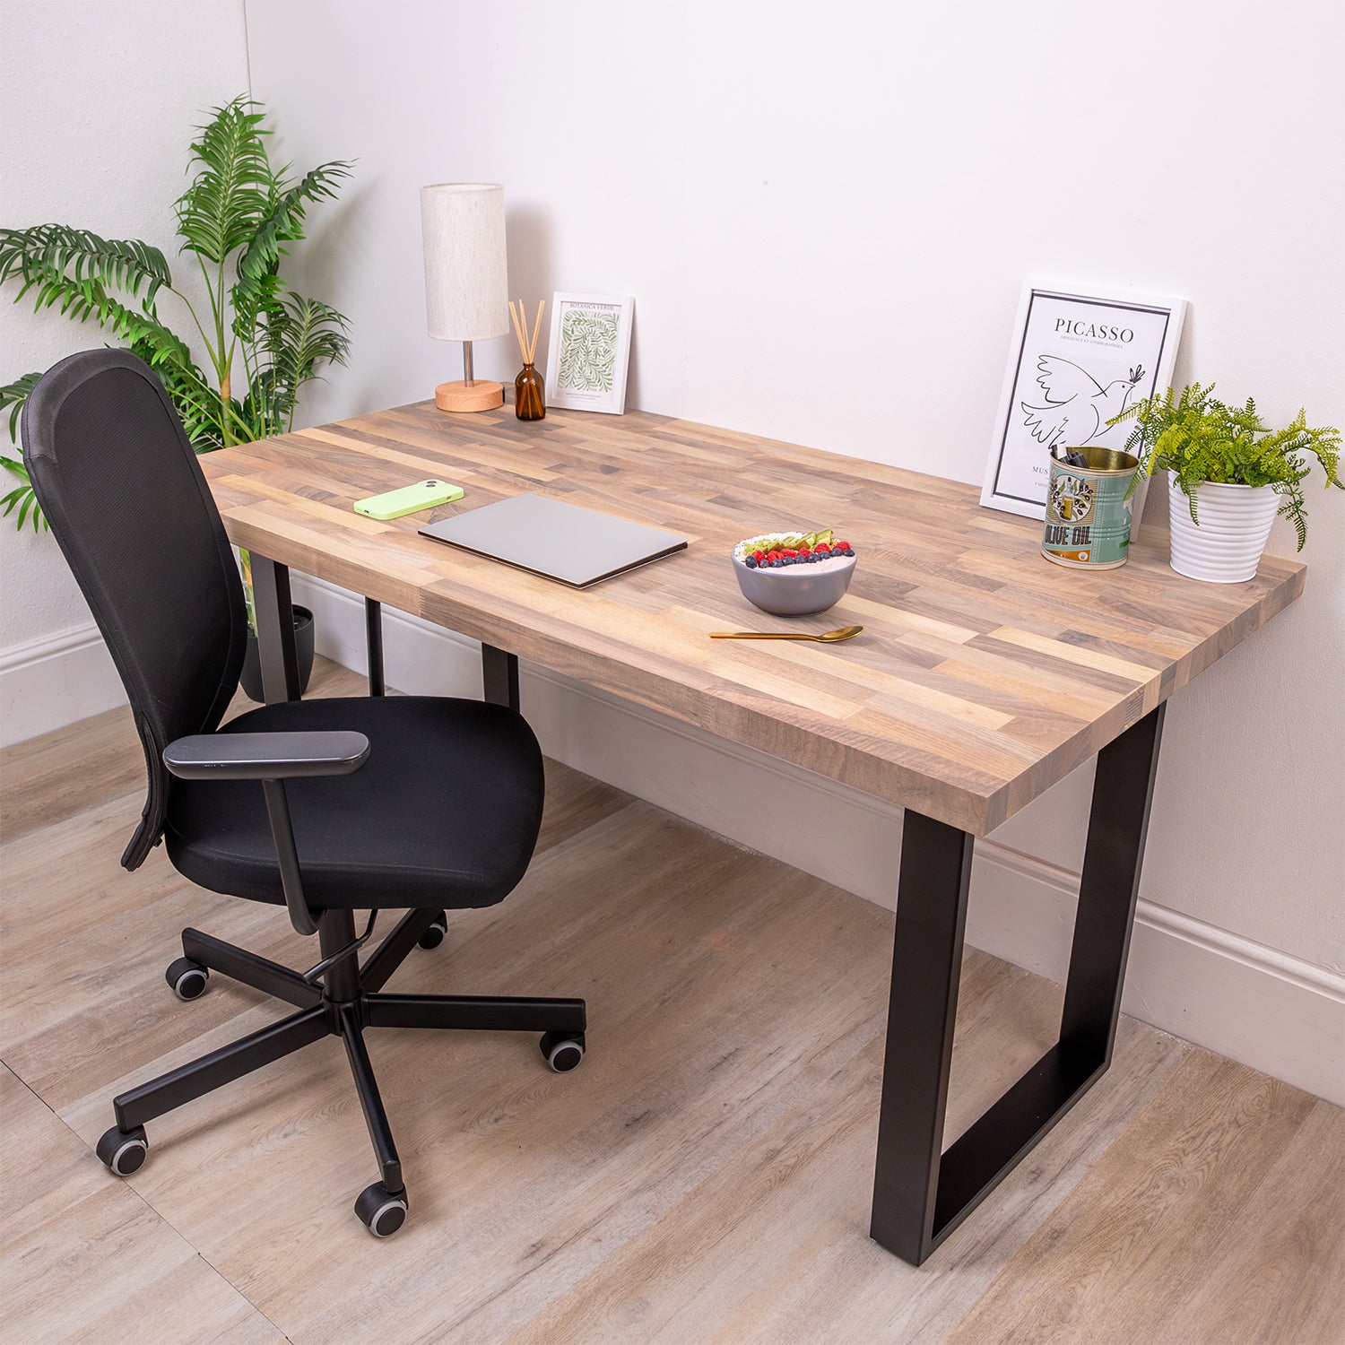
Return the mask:
<path id="1" fill-rule="evenodd" d="M 335 199 L 351 164 L 292 178 L 270 163 L 265 120 L 260 104 L 234 98 L 213 109 L 191 145 L 191 182 L 174 208 L 179 253 L 198 268 L 208 312 L 174 285 L 167 258 L 149 243 L 66 225 L 0 229 L 0 284 L 17 286 L 15 303 L 31 297 L 35 311 L 59 305 L 74 321 L 93 319 L 112 343 L 139 355 L 163 381 L 198 453 L 293 428 L 299 390 L 324 364 L 344 364 L 350 351 L 346 319 L 297 293 L 280 266 L 285 245 L 304 237 L 308 207 Z M 165 295 L 172 320 L 190 319 L 204 367 L 160 316 Z M 39 377 L 0 387 L 11 440 Z M 0 499 L 3 515 L 15 514 L 20 529 L 46 527 L 23 463 L 0 455 L 0 464 L 19 479 Z"/>

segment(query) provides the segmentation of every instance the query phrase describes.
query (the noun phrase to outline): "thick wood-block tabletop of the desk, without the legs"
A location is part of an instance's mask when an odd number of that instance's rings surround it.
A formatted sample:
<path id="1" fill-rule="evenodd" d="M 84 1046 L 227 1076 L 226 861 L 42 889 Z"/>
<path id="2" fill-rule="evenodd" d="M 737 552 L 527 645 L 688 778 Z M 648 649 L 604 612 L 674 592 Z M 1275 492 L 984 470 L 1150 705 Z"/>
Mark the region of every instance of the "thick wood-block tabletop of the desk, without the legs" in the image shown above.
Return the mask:
<path id="1" fill-rule="evenodd" d="M 1063 569 L 1041 557 L 1040 523 L 982 508 L 972 486 L 643 412 L 525 424 L 511 406 L 459 416 L 417 402 L 202 465 L 239 546 L 976 835 L 1181 690 L 1305 578 L 1267 557 L 1245 584 L 1188 580 L 1157 530 L 1119 570 Z M 351 508 L 425 477 L 467 494 L 387 523 Z M 576 590 L 417 535 L 521 491 L 690 545 Z M 733 543 L 819 527 L 858 551 L 846 597 L 810 617 L 751 607 Z M 863 635 L 834 646 L 709 639 L 850 624 Z"/>

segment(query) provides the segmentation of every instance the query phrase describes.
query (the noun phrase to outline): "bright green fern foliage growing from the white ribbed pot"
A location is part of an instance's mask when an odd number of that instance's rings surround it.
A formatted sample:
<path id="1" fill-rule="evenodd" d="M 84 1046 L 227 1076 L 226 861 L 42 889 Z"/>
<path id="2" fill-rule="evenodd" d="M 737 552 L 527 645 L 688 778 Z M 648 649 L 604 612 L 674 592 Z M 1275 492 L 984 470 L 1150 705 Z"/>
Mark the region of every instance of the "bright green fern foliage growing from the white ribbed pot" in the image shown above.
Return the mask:
<path id="1" fill-rule="evenodd" d="M 1279 515 L 1294 525 L 1298 549 L 1307 541 L 1307 500 L 1302 482 L 1311 469 L 1303 455 L 1315 457 L 1326 473 L 1326 486 L 1345 490 L 1340 479 L 1341 434 L 1323 425 L 1310 429 L 1303 410 L 1283 429 L 1272 430 L 1248 397 L 1244 406 L 1228 406 L 1215 397 L 1215 385 L 1190 383 L 1174 397 L 1147 397 L 1127 406 L 1107 424 L 1134 420 L 1126 452 L 1139 459 L 1141 476 L 1157 471 L 1173 473 L 1196 514 L 1196 488 L 1201 482 L 1227 486 L 1268 486 L 1282 496 Z"/>

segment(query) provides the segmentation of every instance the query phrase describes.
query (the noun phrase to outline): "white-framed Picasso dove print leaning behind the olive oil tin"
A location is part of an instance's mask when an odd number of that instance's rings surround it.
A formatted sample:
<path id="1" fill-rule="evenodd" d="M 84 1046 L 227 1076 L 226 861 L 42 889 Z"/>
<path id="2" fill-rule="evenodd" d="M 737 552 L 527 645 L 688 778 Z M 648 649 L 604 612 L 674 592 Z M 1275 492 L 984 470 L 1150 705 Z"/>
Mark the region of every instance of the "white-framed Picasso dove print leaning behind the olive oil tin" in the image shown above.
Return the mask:
<path id="1" fill-rule="evenodd" d="M 981 503 L 1044 519 L 1053 444 L 1124 447 L 1130 426 L 1107 421 L 1167 390 L 1185 316 L 1185 299 L 1028 281 Z"/>

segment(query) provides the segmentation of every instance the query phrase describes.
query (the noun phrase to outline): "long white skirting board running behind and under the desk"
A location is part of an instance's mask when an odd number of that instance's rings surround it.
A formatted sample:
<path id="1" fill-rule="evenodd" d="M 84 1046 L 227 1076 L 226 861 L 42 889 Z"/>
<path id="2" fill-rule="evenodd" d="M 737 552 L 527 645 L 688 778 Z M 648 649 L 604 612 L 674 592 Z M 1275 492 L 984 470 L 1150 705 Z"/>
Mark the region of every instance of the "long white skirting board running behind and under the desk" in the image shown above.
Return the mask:
<path id="1" fill-rule="evenodd" d="M 360 601 L 297 574 L 295 599 L 313 609 L 319 652 L 364 668 Z M 402 691 L 482 694 L 475 640 L 385 608 L 383 648 L 387 681 Z M 549 756 L 893 907 L 900 810 L 529 663 L 521 685 L 523 710 Z M 967 940 L 1061 981 L 1079 874 L 981 841 L 971 886 Z M 1123 1007 L 1345 1103 L 1345 978 L 1332 971 L 1141 900 Z"/>

